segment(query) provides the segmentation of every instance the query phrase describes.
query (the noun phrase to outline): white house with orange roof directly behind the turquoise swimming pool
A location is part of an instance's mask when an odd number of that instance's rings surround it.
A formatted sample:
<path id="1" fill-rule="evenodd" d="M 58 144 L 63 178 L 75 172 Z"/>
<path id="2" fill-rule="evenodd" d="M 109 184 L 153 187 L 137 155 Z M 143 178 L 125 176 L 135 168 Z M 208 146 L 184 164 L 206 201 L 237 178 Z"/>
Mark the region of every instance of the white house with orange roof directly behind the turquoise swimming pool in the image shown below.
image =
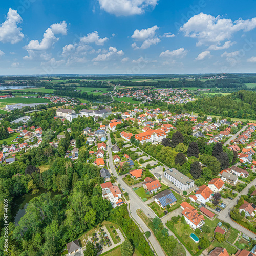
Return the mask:
<path id="1" fill-rule="evenodd" d="M 187 202 L 182 202 L 180 207 L 183 209 L 182 215 L 184 216 L 186 223 L 193 229 L 201 229 L 204 225 L 204 216 L 198 214 L 198 211 Z"/>

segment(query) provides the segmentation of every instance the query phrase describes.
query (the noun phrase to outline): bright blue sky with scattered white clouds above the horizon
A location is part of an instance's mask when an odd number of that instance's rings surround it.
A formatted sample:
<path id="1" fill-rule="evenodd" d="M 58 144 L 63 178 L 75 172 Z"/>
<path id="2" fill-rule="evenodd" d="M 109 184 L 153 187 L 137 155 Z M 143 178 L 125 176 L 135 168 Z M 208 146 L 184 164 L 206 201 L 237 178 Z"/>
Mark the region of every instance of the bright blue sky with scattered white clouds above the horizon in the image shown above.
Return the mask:
<path id="1" fill-rule="evenodd" d="M 252 0 L 5 1 L 0 75 L 256 72 L 255 9 Z"/>

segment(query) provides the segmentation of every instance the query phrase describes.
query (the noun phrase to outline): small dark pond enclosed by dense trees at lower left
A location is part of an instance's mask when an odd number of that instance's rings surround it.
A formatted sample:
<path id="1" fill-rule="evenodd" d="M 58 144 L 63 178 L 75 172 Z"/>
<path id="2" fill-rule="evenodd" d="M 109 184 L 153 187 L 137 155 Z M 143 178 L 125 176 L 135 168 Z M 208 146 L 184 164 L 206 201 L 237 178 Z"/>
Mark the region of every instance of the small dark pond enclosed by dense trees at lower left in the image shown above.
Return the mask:
<path id="1" fill-rule="evenodd" d="M 24 194 L 23 196 L 19 197 L 12 203 L 12 216 L 14 219 L 14 223 L 17 226 L 20 218 L 22 218 L 25 213 L 26 209 L 28 207 L 29 201 L 35 197 L 38 197 L 42 193 L 47 193 L 48 190 L 41 189 L 38 193 L 32 194 L 32 192 Z M 60 192 L 51 192 L 51 197 L 53 198 L 55 195 L 61 194 Z"/>

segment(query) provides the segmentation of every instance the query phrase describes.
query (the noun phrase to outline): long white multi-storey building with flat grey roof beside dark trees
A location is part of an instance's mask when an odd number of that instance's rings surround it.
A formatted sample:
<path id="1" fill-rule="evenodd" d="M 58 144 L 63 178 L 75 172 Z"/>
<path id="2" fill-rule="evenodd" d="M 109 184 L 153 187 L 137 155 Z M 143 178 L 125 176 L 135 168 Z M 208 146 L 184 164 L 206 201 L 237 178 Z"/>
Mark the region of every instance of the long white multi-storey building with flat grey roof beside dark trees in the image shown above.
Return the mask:
<path id="1" fill-rule="evenodd" d="M 164 177 L 172 182 L 180 190 L 187 190 L 191 187 L 194 187 L 194 180 L 188 178 L 186 175 L 180 173 L 175 168 L 165 170 Z"/>

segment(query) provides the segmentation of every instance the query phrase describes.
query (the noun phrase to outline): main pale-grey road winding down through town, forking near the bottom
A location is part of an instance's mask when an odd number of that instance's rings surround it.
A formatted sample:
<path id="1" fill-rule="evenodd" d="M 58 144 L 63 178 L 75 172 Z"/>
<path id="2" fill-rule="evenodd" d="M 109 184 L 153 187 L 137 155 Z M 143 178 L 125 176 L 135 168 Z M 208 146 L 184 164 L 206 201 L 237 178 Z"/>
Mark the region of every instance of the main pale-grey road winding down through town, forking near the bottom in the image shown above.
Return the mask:
<path id="1" fill-rule="evenodd" d="M 145 215 L 147 215 L 149 218 L 155 218 L 156 214 L 151 208 L 147 207 L 147 205 L 141 200 L 141 198 L 132 190 L 131 187 L 129 187 L 122 179 L 118 176 L 116 169 L 114 167 L 113 161 L 112 161 L 112 143 L 110 138 L 110 133 L 108 133 L 108 154 L 109 154 L 109 165 L 112 174 L 116 177 L 117 183 L 121 185 L 122 188 L 125 189 L 129 193 L 130 198 L 130 214 L 132 215 L 133 219 L 139 224 L 139 227 L 142 229 L 143 232 L 150 231 L 148 229 L 147 225 L 144 223 L 144 221 L 137 215 L 137 210 L 141 209 Z M 166 166 L 167 167 L 167 166 Z M 164 223 L 165 224 L 165 223 Z M 170 235 L 174 234 L 168 229 L 168 232 Z M 154 250 L 156 251 L 156 254 L 158 256 L 164 255 L 164 252 L 162 250 L 162 247 L 159 245 L 155 237 L 152 235 L 149 238 L 152 246 L 154 247 Z M 178 240 L 179 241 L 179 240 Z M 186 254 L 191 255 L 187 249 L 184 247 Z"/>

